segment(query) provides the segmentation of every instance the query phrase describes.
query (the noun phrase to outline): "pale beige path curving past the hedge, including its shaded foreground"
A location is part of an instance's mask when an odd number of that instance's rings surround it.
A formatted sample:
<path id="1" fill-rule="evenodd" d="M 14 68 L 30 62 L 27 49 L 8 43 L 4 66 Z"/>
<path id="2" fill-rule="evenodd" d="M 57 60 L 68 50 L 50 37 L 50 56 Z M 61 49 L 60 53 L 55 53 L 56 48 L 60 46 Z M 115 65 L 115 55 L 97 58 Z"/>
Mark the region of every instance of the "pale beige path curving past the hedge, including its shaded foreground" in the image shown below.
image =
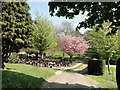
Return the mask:
<path id="1" fill-rule="evenodd" d="M 81 68 L 70 72 L 57 71 L 56 75 L 43 83 L 42 88 L 81 88 L 82 90 L 96 88 L 98 83 L 83 75 L 86 67 L 87 65 L 83 65 Z"/>

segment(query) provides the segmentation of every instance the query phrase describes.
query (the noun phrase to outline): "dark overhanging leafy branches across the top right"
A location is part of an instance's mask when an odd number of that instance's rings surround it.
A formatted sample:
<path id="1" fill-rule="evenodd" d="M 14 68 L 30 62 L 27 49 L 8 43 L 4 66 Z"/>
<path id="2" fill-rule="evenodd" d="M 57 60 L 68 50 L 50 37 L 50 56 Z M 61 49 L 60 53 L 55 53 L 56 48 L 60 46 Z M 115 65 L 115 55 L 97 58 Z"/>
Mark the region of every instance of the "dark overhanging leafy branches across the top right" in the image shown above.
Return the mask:
<path id="1" fill-rule="evenodd" d="M 104 21 L 110 21 L 111 31 L 109 33 L 116 33 L 119 22 L 119 2 L 49 2 L 49 12 L 51 16 L 63 16 L 69 19 L 73 19 L 79 13 L 84 14 L 87 12 L 87 18 L 80 22 L 77 29 L 81 27 L 93 28 L 95 24 L 98 24 L 97 28 L 102 27 L 101 24 Z"/>

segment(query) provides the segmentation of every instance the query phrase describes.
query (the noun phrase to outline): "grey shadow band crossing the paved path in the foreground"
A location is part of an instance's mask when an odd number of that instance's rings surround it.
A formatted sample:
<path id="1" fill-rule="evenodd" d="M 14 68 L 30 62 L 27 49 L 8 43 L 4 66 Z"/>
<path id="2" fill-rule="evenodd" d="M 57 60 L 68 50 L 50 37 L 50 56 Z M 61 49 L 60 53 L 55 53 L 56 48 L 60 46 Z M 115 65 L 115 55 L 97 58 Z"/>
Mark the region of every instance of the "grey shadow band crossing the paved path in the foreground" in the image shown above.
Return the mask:
<path id="1" fill-rule="evenodd" d="M 55 90 L 64 90 L 64 89 L 78 89 L 78 90 L 105 90 L 101 88 L 94 88 L 82 84 L 68 84 L 68 83 L 57 83 L 57 82 L 47 82 L 45 81 L 41 87 L 41 90 L 44 89 L 55 89 Z"/>

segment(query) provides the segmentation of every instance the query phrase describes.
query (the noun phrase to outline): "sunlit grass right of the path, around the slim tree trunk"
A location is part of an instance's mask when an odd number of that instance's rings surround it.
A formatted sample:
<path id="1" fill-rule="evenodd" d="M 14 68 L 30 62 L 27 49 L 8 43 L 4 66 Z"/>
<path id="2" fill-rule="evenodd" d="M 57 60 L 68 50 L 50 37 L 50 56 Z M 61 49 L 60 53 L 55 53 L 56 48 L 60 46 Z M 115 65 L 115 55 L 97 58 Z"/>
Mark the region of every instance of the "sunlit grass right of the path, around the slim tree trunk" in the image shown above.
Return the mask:
<path id="1" fill-rule="evenodd" d="M 111 65 L 110 70 L 111 70 L 111 74 L 108 74 L 107 66 L 106 66 L 106 70 L 105 70 L 106 72 L 103 76 L 95 76 L 95 75 L 88 75 L 88 74 L 86 74 L 86 76 L 96 80 L 99 83 L 100 88 L 117 89 L 116 66 Z"/>

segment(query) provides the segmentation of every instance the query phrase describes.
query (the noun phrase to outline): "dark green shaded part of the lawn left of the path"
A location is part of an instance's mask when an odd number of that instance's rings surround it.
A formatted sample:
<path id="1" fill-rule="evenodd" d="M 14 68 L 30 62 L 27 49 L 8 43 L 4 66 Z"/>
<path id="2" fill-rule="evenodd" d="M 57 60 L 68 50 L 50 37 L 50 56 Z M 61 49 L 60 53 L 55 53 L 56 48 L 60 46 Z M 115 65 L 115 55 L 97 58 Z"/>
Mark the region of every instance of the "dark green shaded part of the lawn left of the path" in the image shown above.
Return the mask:
<path id="1" fill-rule="evenodd" d="M 23 73 L 2 71 L 2 88 L 40 88 L 43 78 L 36 78 Z"/>

